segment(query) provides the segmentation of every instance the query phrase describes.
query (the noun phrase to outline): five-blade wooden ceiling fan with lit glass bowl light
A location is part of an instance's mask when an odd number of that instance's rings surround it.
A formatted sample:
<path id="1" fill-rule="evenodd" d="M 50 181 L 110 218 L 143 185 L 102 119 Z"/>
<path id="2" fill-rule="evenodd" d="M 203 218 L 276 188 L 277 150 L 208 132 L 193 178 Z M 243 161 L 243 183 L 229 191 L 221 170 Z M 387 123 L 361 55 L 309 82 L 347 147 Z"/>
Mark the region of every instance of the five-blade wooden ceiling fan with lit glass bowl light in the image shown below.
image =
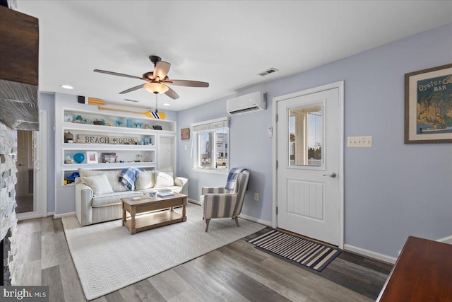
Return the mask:
<path id="1" fill-rule="evenodd" d="M 124 76 L 126 78 L 131 79 L 140 79 L 146 81 L 148 83 L 141 84 L 125 91 L 121 91 L 119 94 L 129 93 L 131 91 L 136 91 L 140 88 L 144 88 L 145 90 L 158 94 L 165 93 L 169 96 L 169 98 L 177 99 L 179 95 L 176 91 L 169 88 L 167 85 L 176 85 L 176 86 L 189 86 L 189 87 L 208 87 L 209 83 L 200 82 L 200 81 L 190 81 L 190 80 L 170 80 L 167 76 L 169 68 L 171 64 L 168 62 L 162 61 L 160 57 L 157 56 L 149 56 L 150 62 L 154 64 L 154 71 L 148 71 L 143 76 L 130 76 L 129 74 L 119 74 L 113 71 L 106 71 L 100 69 L 94 69 L 95 72 L 100 72 L 101 74 L 112 74 L 113 76 Z"/>

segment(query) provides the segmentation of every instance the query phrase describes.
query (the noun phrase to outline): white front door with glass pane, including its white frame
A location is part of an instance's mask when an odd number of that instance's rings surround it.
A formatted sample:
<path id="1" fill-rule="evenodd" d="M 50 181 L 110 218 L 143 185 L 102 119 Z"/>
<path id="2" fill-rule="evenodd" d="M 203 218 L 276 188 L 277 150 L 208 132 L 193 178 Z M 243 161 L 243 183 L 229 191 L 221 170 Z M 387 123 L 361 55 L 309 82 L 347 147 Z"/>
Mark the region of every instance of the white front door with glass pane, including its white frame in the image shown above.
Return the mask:
<path id="1" fill-rule="evenodd" d="M 343 248 L 343 82 L 275 100 L 277 226 Z"/>

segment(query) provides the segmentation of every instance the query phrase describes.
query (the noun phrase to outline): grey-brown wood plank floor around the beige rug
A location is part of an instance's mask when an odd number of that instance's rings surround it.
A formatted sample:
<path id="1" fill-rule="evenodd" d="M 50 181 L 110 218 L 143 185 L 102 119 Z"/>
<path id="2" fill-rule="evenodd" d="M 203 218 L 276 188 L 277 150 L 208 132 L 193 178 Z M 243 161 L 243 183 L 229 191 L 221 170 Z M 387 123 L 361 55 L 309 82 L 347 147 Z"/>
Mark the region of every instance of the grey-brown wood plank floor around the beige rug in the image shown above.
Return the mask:
<path id="1" fill-rule="evenodd" d="M 16 285 L 49 285 L 49 301 L 86 301 L 61 219 L 20 221 L 17 236 Z M 343 252 L 319 273 L 262 252 L 249 238 L 93 301 L 374 301 L 391 271 Z"/>

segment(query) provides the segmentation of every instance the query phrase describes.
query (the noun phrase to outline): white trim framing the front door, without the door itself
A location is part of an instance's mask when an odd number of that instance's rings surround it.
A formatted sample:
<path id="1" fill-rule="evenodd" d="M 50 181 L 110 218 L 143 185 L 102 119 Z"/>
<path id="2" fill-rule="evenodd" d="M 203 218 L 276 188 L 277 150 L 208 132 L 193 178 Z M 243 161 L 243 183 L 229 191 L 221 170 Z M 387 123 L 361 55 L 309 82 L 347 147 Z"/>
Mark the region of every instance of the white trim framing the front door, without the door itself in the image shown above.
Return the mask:
<path id="1" fill-rule="evenodd" d="M 339 91 L 339 103 L 340 103 L 340 163 L 339 163 L 339 169 L 338 174 L 341 176 L 338 178 L 339 182 L 339 190 L 340 190 L 340 211 L 339 211 L 339 223 L 340 223 L 340 239 L 339 239 L 339 245 L 338 248 L 343 249 L 344 248 L 344 81 L 338 81 L 335 83 L 326 84 L 323 86 L 318 86 L 314 88 L 309 88 L 304 91 L 297 91 L 295 93 L 289 93 L 286 95 L 280 95 L 275 98 L 273 98 L 273 208 L 272 208 L 272 227 L 277 228 L 278 227 L 278 216 L 276 215 L 276 207 L 277 207 L 277 197 L 278 197 L 278 179 L 276 177 L 277 171 L 276 171 L 276 159 L 278 154 L 276 153 L 276 141 L 277 141 L 277 122 L 276 122 L 276 114 L 277 114 L 277 104 L 276 102 L 280 100 L 287 100 L 288 98 L 297 98 L 302 95 L 308 95 L 311 93 L 318 93 L 321 91 L 326 91 L 329 89 L 338 88 Z"/>

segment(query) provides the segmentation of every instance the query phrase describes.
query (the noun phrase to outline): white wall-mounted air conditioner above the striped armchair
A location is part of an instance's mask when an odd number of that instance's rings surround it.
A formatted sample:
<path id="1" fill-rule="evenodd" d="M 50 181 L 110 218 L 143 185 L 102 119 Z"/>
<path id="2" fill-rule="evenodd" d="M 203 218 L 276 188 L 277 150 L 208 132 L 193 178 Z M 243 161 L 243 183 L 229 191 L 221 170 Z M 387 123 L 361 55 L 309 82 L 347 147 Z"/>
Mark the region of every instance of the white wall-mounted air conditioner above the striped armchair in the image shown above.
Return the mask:
<path id="1" fill-rule="evenodd" d="M 256 91 L 237 98 L 227 100 L 227 113 L 230 115 L 240 115 L 246 112 L 266 110 L 266 93 Z"/>

